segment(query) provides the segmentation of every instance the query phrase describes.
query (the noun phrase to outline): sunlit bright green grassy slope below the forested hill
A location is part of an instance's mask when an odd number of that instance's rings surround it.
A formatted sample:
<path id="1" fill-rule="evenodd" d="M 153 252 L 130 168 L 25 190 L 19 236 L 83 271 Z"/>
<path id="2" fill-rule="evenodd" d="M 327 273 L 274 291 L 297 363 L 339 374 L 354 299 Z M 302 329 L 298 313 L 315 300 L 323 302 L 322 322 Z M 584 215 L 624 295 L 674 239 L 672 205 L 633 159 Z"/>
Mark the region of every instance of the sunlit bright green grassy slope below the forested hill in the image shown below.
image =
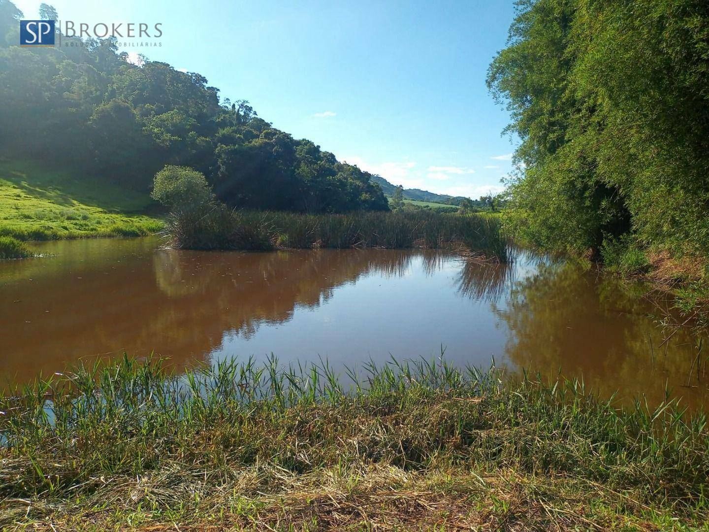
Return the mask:
<path id="1" fill-rule="evenodd" d="M 0 235 L 54 240 L 155 233 L 147 194 L 31 162 L 0 162 Z"/>

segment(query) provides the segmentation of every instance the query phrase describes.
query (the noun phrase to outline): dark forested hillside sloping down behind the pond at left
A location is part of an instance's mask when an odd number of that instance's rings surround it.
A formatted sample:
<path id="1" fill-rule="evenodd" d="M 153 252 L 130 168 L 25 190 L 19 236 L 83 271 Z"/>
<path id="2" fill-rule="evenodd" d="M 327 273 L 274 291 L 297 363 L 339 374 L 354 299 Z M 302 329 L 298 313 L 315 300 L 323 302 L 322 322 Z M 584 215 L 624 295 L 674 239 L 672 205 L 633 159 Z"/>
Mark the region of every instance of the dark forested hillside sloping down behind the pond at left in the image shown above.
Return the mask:
<path id="1" fill-rule="evenodd" d="M 145 192 L 164 165 L 185 165 L 231 206 L 389 209 L 371 174 L 279 131 L 247 101 L 220 99 L 201 74 L 130 64 L 111 38 L 82 45 L 62 35 L 61 48 L 20 48 L 21 17 L 0 0 L 0 157 Z"/>

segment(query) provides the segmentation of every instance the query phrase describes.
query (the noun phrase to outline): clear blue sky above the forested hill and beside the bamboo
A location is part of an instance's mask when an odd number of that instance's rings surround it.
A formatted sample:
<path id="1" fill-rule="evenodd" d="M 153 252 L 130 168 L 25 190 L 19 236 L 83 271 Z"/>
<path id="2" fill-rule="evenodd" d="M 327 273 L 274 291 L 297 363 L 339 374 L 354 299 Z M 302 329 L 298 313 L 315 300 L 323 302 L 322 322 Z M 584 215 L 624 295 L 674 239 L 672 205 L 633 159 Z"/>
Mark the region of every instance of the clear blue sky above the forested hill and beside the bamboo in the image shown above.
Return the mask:
<path id="1" fill-rule="evenodd" d="M 39 1 L 14 1 L 37 16 Z M 199 72 L 223 98 L 394 184 L 477 197 L 511 170 L 508 114 L 485 75 L 512 0 L 48 4 L 77 24 L 162 23 L 160 47 L 125 50 Z"/>

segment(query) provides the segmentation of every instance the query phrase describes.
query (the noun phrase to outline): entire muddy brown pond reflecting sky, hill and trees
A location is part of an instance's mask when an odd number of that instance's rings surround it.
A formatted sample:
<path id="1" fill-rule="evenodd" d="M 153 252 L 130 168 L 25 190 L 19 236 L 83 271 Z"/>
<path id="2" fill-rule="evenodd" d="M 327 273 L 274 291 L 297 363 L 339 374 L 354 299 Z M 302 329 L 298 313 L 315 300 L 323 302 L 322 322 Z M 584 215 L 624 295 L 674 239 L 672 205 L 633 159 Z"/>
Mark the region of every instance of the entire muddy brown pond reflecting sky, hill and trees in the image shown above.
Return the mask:
<path id="1" fill-rule="evenodd" d="M 420 250 L 273 253 L 160 249 L 156 238 L 38 243 L 0 262 L 0 379 L 80 360 L 145 358 L 182 370 L 236 356 L 445 358 L 584 379 L 602 395 L 705 406 L 705 339 L 661 326 L 669 301 L 570 262 L 518 252 L 480 265 Z M 669 340 L 667 339 L 669 336 Z M 702 353 L 704 351 L 704 353 Z"/>

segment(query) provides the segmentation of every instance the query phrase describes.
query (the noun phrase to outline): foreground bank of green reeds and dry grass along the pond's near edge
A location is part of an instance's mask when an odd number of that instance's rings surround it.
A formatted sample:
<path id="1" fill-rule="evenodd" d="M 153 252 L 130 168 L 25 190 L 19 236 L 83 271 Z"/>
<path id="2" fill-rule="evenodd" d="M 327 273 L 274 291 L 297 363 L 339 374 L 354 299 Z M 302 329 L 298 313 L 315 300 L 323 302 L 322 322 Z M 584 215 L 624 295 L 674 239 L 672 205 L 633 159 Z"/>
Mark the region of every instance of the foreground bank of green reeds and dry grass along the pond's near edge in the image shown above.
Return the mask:
<path id="1" fill-rule="evenodd" d="M 709 519 L 703 415 L 617 410 L 578 381 L 442 360 L 344 373 L 248 360 L 177 377 L 125 359 L 25 387 L 1 400 L 0 526 L 647 530 Z"/>

